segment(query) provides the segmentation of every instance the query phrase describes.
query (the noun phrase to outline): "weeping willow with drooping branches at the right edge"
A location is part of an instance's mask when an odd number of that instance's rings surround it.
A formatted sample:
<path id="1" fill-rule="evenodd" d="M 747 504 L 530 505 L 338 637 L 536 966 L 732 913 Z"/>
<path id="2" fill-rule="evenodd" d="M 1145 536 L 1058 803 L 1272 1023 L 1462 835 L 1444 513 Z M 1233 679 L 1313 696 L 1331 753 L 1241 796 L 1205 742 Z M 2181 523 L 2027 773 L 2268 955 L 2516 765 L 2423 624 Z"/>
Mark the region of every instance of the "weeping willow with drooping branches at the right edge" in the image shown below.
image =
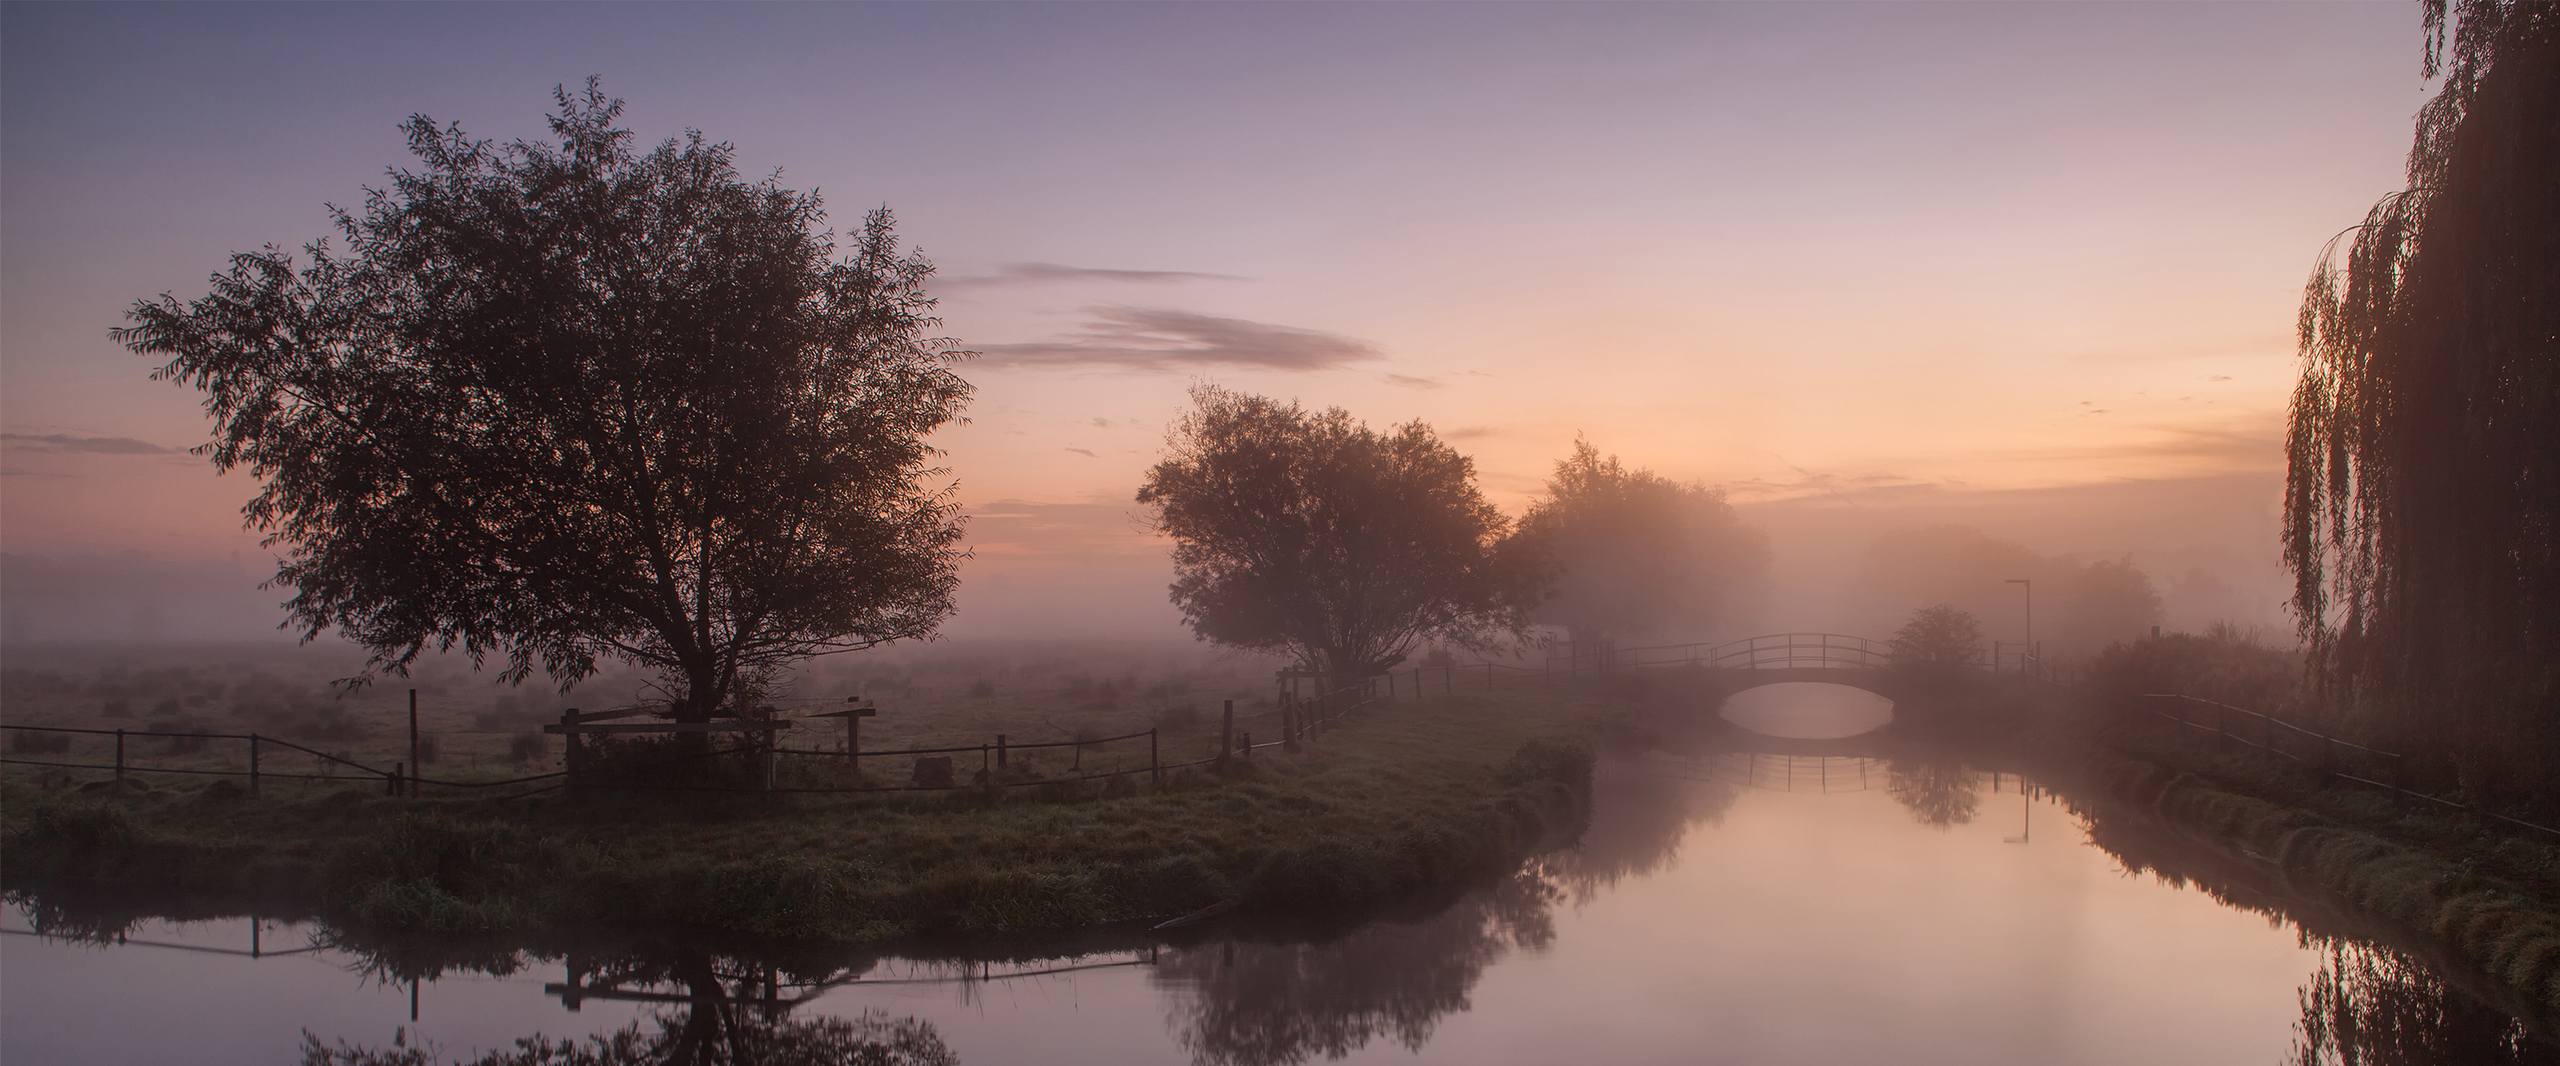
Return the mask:
<path id="1" fill-rule="evenodd" d="M 2560 8 L 2424 5 L 2409 184 L 2322 251 L 2286 436 L 2294 612 L 2345 705 L 2560 800 Z M 2340 254 L 2340 241 L 2345 249 Z"/>

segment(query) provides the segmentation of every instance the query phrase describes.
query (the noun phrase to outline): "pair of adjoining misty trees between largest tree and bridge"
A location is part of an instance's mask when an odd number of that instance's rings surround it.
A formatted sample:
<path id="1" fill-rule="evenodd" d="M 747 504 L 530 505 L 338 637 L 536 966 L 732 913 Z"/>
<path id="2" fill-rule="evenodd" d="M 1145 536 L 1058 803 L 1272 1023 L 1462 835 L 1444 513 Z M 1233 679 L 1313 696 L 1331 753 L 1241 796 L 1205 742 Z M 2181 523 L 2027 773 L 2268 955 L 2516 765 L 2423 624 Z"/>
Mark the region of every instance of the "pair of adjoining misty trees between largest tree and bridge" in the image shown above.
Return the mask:
<path id="1" fill-rule="evenodd" d="M 1720 623 L 1766 569 L 1720 492 L 1590 441 L 1513 525 L 1423 423 L 1375 430 L 1341 407 L 1219 387 L 1193 390 L 1137 502 L 1172 538 L 1172 602 L 1193 633 L 1336 684 L 1541 623 L 1577 641 Z"/>

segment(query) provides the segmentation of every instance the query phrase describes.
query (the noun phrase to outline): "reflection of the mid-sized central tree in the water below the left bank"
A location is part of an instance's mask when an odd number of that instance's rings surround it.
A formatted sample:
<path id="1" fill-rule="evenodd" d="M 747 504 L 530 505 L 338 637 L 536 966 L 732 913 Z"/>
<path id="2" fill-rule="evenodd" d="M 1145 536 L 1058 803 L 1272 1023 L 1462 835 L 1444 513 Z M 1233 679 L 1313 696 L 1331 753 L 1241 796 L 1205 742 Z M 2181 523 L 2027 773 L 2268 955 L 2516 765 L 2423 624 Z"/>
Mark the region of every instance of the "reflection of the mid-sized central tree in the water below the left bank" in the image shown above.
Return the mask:
<path id="1" fill-rule="evenodd" d="M 1487 964 L 1554 943 L 1556 899 L 1554 879 L 1531 864 L 1439 915 L 1329 943 L 1170 951 L 1155 979 L 1172 994 L 1175 1038 L 1201 1066 L 1341 1058 L 1377 1038 L 1421 1051 L 1441 1017 L 1467 1010 Z"/>

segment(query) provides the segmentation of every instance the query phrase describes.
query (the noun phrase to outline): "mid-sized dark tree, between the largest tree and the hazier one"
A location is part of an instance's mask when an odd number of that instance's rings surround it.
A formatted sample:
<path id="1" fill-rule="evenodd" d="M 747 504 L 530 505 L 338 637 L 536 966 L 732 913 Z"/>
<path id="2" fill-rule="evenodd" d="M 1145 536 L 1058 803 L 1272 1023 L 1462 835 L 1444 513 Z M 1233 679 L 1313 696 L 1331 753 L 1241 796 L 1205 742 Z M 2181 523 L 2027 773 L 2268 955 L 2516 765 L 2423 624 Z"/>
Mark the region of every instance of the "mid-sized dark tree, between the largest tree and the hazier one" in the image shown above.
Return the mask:
<path id="1" fill-rule="evenodd" d="M 1172 536 L 1193 633 L 1344 682 L 1421 641 L 1518 633 L 1536 592 L 1498 551 L 1508 523 L 1475 464 L 1423 423 L 1380 433 L 1341 407 L 1198 387 L 1137 502 Z"/>

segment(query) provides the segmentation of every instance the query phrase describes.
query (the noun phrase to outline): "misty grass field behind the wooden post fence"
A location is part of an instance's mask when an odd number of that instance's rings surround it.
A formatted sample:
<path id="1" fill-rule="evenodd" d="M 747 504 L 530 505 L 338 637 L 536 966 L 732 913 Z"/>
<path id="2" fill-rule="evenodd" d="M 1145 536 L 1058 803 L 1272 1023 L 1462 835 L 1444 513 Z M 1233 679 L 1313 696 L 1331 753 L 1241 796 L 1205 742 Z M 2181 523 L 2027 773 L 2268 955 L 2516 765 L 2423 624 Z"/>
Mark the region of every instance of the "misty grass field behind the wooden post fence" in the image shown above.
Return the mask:
<path id="1" fill-rule="evenodd" d="M 0 725 L 67 725 L 90 730 L 154 733 L 261 733 L 271 741 L 317 748 L 346 761 L 392 769 L 410 761 L 407 692 L 417 689 L 417 764 L 433 782 L 489 782 L 561 769 L 561 743 L 543 735 L 561 710 L 586 712 L 655 705 L 648 679 L 602 674 L 573 694 L 540 676 L 499 684 L 494 671 L 474 671 L 458 656 L 425 661 L 415 676 L 381 679 L 340 692 L 338 676 L 361 659 L 343 648 L 159 648 L 13 653 L 0 674 Z M 1162 761 L 1188 761 L 1213 751 L 1221 705 L 1234 700 L 1242 730 L 1277 735 L 1275 664 L 1183 643 L 978 643 L 896 648 L 817 661 L 771 694 L 783 718 L 842 710 L 850 700 L 878 707 L 860 723 L 863 748 L 937 748 L 1009 743 L 1060 743 L 1160 730 Z M 1482 684 L 1482 676 L 1472 676 Z M 1441 687 L 1441 684 L 1434 684 Z M 1408 679 L 1411 694 L 1411 679 Z M 840 751 L 842 720 L 801 720 L 783 748 Z M 10 730 L 10 758 L 95 764 L 115 761 L 113 735 Z M 1032 766 L 1093 771 L 1144 766 L 1144 743 L 1062 748 L 1027 756 Z M 238 738 L 128 738 L 125 761 L 141 779 L 169 782 L 143 769 L 246 771 L 248 743 Z M 975 769 L 975 758 L 963 758 Z M 315 774 L 320 787 L 361 771 L 266 746 L 261 769 L 276 787 L 282 774 Z M 865 766 L 868 784 L 904 784 L 906 764 Z M 791 761 L 786 758 L 786 771 Z M 8 766 L 10 779 L 44 779 L 44 769 Z M 51 771 L 51 779 L 92 774 Z M 840 776 L 840 774 L 837 774 Z"/>

